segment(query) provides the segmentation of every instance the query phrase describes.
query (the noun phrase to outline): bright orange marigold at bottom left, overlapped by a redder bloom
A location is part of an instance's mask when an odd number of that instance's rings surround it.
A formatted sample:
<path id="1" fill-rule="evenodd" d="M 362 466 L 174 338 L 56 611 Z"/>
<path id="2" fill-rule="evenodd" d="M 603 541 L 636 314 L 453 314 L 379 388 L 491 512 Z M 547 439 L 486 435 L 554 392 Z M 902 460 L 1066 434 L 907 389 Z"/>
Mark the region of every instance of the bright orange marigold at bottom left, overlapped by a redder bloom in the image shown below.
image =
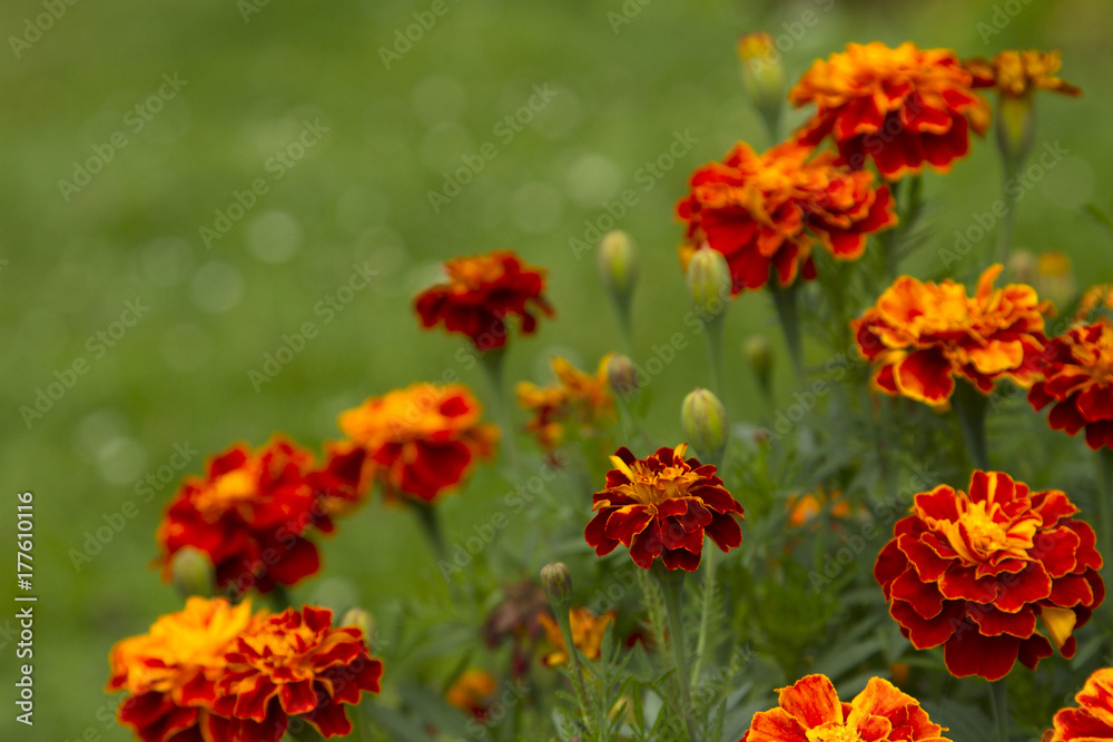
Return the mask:
<path id="1" fill-rule="evenodd" d="M 259 616 L 250 601 L 233 606 L 223 597 L 190 597 L 186 607 L 158 619 L 150 631 L 118 642 L 108 655 L 105 690 L 126 691 L 120 725 L 144 742 L 194 742 L 203 738 L 217 700 L 225 654 Z"/>

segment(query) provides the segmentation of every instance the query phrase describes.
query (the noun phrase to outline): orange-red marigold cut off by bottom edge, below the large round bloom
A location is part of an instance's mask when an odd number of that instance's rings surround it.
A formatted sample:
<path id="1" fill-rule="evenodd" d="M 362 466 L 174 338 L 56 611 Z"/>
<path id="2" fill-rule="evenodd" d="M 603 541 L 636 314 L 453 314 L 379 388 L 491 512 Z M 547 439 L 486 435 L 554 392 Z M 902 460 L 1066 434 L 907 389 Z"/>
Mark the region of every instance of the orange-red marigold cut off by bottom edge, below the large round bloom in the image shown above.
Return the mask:
<path id="1" fill-rule="evenodd" d="M 777 708 L 754 714 L 739 742 L 947 742 L 946 728 L 883 677 L 871 677 L 849 703 L 826 675 L 807 675 L 777 693 Z"/>

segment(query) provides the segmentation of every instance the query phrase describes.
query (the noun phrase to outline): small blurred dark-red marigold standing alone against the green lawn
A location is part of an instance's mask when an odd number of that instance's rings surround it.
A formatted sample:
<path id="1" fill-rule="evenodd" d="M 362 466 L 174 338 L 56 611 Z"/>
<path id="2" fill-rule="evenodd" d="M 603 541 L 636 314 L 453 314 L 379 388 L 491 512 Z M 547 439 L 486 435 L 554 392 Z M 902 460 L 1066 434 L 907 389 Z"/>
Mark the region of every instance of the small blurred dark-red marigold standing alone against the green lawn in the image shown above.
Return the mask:
<path id="1" fill-rule="evenodd" d="M 443 323 L 447 332 L 466 335 L 476 348 L 490 350 L 505 345 L 508 317 L 516 315 L 529 335 L 538 325 L 534 311 L 553 316 L 543 296 L 546 271 L 524 265 L 511 250 L 453 258 L 444 269 L 449 281 L 414 300 L 426 328 Z"/>

